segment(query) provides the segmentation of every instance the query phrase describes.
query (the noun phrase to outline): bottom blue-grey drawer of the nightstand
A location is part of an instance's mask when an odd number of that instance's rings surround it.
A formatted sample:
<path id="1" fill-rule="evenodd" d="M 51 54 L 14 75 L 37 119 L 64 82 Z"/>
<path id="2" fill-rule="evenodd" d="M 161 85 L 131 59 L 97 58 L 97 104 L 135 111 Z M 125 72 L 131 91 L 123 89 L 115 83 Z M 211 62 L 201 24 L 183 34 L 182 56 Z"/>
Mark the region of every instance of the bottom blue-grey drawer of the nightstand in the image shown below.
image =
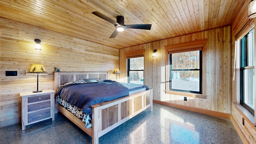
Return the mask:
<path id="1" fill-rule="evenodd" d="M 28 123 L 50 117 L 50 108 L 28 114 Z"/>

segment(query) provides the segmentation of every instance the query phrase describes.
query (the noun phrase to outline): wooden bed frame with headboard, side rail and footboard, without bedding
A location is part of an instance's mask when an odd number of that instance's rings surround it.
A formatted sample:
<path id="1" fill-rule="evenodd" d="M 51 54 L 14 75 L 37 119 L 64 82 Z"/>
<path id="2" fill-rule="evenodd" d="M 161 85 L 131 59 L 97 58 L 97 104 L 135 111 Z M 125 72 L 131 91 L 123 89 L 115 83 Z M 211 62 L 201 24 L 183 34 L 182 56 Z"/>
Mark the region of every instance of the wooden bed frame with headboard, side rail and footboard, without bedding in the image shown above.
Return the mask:
<path id="1" fill-rule="evenodd" d="M 105 78 L 108 80 L 109 72 L 54 72 L 54 90 L 66 82 L 84 79 Z M 93 104 L 92 127 L 86 128 L 85 123 L 66 108 L 55 104 L 56 109 L 70 119 L 74 124 L 92 137 L 92 144 L 99 143 L 99 137 L 120 124 L 136 116 L 143 110 L 152 111 L 152 89 L 136 92 L 122 98 L 108 102 Z M 56 112 L 57 112 L 56 110 Z"/>

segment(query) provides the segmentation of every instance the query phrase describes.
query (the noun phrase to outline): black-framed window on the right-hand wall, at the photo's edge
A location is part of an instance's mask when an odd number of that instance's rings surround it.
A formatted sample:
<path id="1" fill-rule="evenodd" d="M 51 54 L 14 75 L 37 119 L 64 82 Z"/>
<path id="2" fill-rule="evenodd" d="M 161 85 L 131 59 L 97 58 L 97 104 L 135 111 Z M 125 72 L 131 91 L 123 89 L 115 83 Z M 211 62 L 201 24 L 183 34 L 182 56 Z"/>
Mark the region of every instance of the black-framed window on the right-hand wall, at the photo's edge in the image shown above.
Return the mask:
<path id="1" fill-rule="evenodd" d="M 254 114 L 254 29 L 238 40 L 240 45 L 240 104 Z"/>

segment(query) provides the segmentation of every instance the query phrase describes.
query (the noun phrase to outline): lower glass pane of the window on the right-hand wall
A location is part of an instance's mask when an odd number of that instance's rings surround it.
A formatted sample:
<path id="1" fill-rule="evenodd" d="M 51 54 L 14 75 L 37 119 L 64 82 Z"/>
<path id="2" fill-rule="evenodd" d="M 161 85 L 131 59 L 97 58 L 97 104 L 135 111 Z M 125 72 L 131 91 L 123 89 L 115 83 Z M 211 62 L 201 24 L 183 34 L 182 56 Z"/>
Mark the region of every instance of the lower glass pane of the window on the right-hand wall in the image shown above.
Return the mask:
<path id="1" fill-rule="evenodd" d="M 254 69 L 244 70 L 244 103 L 254 110 Z"/>

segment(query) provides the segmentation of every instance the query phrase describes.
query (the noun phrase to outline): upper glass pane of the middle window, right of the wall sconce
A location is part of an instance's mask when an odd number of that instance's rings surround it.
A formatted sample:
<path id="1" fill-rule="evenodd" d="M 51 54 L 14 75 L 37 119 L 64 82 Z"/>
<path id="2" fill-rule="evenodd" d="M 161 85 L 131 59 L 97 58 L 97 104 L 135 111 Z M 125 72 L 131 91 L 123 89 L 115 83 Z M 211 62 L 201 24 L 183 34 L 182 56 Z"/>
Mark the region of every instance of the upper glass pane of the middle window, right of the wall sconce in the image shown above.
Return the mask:
<path id="1" fill-rule="evenodd" d="M 172 69 L 199 69 L 199 50 L 172 54 Z"/>

